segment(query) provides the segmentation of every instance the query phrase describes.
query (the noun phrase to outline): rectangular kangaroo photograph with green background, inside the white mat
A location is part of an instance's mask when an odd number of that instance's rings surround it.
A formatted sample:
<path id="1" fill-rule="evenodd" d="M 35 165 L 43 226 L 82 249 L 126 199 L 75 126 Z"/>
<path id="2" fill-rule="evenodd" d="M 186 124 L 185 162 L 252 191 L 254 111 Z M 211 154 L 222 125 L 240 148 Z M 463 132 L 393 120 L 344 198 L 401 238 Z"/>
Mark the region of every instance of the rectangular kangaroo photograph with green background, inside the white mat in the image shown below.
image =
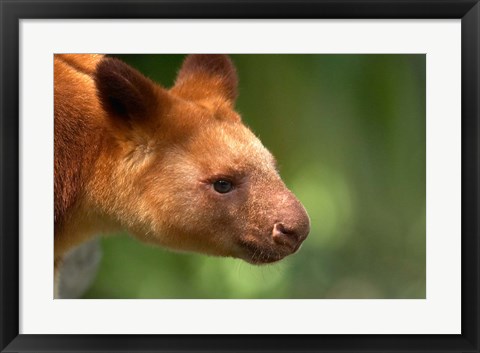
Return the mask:
<path id="1" fill-rule="evenodd" d="M 55 299 L 426 298 L 426 55 L 53 61 Z"/>

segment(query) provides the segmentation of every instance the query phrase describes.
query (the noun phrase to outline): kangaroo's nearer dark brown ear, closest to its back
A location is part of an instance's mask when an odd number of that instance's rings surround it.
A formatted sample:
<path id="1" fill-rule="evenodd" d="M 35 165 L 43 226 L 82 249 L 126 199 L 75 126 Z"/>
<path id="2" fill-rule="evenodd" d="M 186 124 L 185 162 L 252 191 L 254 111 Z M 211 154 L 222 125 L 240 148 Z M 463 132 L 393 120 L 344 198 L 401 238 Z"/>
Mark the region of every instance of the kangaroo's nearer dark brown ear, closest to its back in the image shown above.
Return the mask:
<path id="1" fill-rule="evenodd" d="M 102 59 L 94 77 L 103 108 L 115 117 L 144 120 L 161 104 L 161 87 L 123 61 Z"/>

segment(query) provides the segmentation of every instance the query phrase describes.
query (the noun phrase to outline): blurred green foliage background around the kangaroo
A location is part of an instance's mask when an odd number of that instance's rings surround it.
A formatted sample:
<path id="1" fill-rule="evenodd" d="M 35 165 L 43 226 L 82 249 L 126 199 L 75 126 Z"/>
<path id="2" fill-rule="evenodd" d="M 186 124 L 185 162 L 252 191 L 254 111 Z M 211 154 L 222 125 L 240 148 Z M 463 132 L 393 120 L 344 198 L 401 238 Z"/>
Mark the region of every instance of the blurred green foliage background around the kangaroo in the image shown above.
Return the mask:
<path id="1" fill-rule="evenodd" d="M 183 55 L 118 55 L 170 87 Z M 85 298 L 425 298 L 425 55 L 232 55 L 312 230 L 278 264 L 102 239 Z"/>

